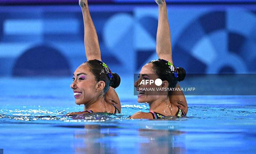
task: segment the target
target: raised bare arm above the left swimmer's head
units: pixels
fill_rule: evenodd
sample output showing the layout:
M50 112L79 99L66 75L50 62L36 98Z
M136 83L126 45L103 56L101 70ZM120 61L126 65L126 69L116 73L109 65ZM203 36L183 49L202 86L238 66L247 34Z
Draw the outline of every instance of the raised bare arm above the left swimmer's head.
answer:
M99 41L91 18L87 0L79 0L84 19L84 47L87 60L101 60Z

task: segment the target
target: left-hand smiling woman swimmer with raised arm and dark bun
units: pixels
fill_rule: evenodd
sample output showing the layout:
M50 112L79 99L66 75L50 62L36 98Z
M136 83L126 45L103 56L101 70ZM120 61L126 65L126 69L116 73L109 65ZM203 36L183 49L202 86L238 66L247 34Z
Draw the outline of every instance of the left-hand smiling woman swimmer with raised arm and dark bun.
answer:
M114 88L120 84L120 77L112 73L101 61L98 36L93 24L87 0L79 0L84 20L84 46L87 61L76 68L73 74L75 104L84 105L84 111L66 115L106 112L120 113L121 105Z

